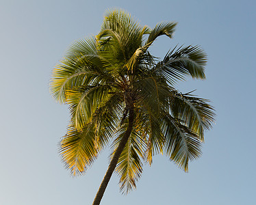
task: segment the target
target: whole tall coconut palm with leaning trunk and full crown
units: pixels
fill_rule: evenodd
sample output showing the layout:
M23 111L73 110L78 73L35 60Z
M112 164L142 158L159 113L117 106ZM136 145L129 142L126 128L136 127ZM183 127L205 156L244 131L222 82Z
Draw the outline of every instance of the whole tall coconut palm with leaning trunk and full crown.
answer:
M164 22L150 29L127 12L109 11L99 34L75 42L53 70L51 94L71 112L60 143L66 168L83 174L101 150L112 150L94 205L114 171L120 190L128 193L155 154L165 154L185 172L201 155L214 109L209 100L173 86L186 76L205 79L204 51L176 46L162 61L149 52L159 36L172 38L176 25Z

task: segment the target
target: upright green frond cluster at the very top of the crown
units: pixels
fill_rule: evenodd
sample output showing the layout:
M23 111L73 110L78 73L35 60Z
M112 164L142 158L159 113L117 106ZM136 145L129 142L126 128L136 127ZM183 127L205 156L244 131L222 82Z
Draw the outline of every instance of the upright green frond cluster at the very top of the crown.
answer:
M114 10L105 17L97 39L101 44L108 41L104 44L107 45L103 52L105 59L125 65L125 61L142 46L146 33L149 33L149 28L140 27L130 14Z

